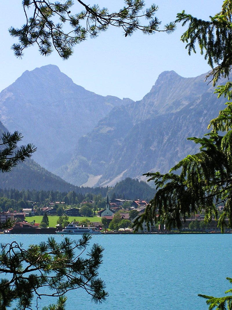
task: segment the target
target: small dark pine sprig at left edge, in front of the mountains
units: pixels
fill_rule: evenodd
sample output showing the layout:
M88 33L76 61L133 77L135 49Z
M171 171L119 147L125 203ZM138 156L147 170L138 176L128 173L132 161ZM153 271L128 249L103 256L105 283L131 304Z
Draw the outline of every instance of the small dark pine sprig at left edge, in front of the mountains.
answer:
M23 162L26 157L31 157L36 151L33 144L17 146L23 136L18 131L13 134L4 132L0 139L0 171L9 172L20 162Z

